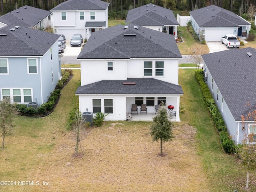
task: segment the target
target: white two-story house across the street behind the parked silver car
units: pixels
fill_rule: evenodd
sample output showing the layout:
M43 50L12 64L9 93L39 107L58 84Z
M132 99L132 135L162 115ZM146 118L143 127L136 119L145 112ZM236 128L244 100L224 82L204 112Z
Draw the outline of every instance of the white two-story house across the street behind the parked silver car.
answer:
M108 28L108 5L100 0L68 0L52 10L53 29L56 34L64 34L71 39L74 34L82 34L88 39L95 31Z

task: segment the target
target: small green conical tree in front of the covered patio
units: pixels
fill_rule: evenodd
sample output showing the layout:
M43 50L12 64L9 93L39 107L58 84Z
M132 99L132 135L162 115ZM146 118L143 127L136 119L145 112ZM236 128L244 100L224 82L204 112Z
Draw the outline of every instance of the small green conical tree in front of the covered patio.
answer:
M153 141L158 142L158 140L160 140L160 155L162 156L163 142L172 141L172 138L174 138L172 133L172 122L168 119L166 107L161 106L158 111L158 116L153 118L153 124L150 127L150 135L152 136Z

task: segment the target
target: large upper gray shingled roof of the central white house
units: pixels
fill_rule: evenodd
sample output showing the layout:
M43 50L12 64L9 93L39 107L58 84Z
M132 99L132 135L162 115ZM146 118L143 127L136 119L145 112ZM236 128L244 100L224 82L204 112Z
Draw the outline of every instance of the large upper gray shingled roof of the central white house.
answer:
M93 32L78 59L182 58L173 36L141 26L134 29L134 24L124 27Z

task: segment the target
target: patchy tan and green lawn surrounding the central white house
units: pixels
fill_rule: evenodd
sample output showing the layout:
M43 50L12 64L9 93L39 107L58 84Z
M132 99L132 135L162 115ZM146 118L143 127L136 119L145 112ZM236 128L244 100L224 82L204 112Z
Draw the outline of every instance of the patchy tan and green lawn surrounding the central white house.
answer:
M194 69L180 69L179 80L186 111L174 123L174 140L164 144L165 157L158 156L159 143L149 135L151 122L109 121L88 131L81 142L84 156L74 158L74 134L67 129L78 101L80 70L74 70L54 112L44 118L16 116L0 150L1 180L41 185L1 186L1 191L255 192L256 174L244 190L246 170L221 148Z

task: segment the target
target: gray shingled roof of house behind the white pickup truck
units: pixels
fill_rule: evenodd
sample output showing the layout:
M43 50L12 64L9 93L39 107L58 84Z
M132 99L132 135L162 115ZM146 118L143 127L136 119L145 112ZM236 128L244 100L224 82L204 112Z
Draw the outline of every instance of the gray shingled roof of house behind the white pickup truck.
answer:
M251 25L233 12L215 5L190 11L190 15L200 27L237 27Z

